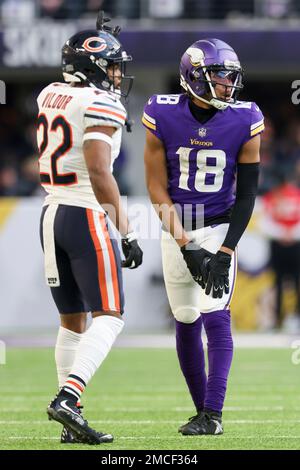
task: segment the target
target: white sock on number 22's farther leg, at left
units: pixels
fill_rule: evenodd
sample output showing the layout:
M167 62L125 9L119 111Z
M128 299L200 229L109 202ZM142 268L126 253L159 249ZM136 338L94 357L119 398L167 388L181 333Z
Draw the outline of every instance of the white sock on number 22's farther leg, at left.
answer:
M71 372L81 336L82 334L67 330L63 326L58 330L55 362L59 388L64 385Z

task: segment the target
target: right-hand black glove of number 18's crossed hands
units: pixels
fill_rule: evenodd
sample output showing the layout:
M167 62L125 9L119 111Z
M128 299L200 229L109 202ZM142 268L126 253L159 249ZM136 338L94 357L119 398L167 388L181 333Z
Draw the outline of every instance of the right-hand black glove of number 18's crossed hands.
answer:
M223 251L218 251L208 262L208 280L205 294L217 299L223 297L223 293L229 294L229 268L231 256Z

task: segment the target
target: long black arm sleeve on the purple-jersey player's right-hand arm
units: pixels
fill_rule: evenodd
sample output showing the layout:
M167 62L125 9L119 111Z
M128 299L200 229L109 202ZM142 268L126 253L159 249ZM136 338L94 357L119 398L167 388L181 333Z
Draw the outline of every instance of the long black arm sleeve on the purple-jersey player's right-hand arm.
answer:
M223 246L234 250L249 223L258 188L259 163L238 163L236 200Z

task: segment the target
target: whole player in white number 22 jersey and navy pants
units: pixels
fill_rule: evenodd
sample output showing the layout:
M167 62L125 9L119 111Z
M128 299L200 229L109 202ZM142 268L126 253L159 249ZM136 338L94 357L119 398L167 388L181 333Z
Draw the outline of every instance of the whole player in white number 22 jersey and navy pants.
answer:
M113 440L88 426L80 396L123 328L121 267L138 267L143 255L111 172L126 122L120 97L128 95L133 77L125 73L131 57L117 39L120 28L107 21L100 12L97 29L66 42L66 83L50 84L37 100L41 184L48 193L40 234L46 280L61 318L59 392L47 413L64 426L61 442ZM106 212L122 235L123 262Z

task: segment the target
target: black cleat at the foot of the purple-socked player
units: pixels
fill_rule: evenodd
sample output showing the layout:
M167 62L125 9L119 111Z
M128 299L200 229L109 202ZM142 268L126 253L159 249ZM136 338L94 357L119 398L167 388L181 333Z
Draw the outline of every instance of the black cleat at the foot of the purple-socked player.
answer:
M212 412L201 411L180 426L178 432L184 436L202 436L223 434L222 418Z

